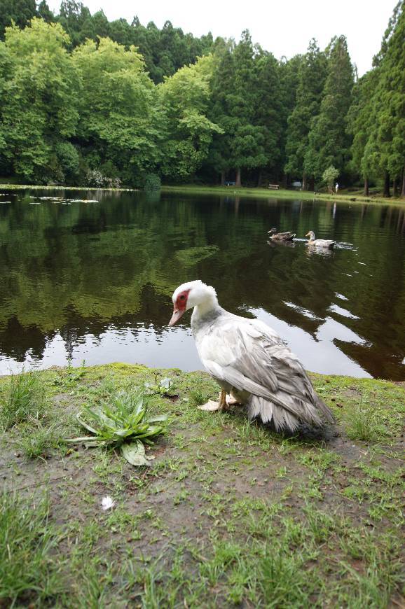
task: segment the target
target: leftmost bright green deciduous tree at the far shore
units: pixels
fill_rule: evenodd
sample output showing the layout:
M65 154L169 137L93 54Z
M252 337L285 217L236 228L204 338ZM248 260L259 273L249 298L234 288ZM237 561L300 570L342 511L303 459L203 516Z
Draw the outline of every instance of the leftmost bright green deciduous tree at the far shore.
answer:
M34 18L6 28L0 42L0 138L17 176L32 183L64 180L57 144L76 130L81 78L59 24Z

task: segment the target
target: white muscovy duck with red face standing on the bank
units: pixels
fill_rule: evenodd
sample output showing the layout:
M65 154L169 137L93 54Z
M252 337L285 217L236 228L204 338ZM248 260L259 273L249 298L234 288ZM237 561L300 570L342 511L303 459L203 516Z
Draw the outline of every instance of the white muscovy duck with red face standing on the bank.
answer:
M219 403L207 402L202 409L223 409L229 393L247 405L250 419L273 421L276 430L334 421L298 358L266 323L228 313L214 288L199 279L179 286L172 300L169 325L194 308L191 330L198 355L222 388Z

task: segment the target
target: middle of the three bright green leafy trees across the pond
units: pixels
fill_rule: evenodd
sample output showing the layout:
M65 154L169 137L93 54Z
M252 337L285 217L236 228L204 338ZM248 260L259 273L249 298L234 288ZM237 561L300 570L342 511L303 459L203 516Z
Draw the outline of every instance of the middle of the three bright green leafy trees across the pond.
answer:
M88 151L88 165L110 161L125 183L139 183L158 164L162 137L156 91L142 55L100 38L76 48L72 59L83 81L77 141Z

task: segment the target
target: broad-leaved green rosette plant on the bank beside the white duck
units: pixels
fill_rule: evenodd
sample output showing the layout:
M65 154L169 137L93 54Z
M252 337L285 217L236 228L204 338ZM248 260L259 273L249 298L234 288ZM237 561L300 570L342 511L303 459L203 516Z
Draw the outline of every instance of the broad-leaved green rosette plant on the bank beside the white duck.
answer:
M111 403L85 406L76 416L92 435L73 437L66 442L79 442L86 448L118 449L131 465L151 465L149 460L153 457L146 458L144 444L153 444L165 430L159 423L167 419L165 414L149 416L147 397L142 391L119 391L111 396Z

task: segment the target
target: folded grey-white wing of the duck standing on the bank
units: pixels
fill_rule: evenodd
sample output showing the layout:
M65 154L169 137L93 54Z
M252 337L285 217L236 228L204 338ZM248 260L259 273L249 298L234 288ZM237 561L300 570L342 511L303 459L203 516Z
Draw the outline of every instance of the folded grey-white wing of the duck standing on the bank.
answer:
M208 372L235 389L265 398L304 420L308 414L314 419L317 409L333 420L298 358L265 323L234 317L211 328L198 350Z

